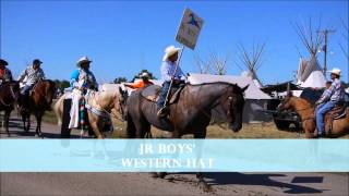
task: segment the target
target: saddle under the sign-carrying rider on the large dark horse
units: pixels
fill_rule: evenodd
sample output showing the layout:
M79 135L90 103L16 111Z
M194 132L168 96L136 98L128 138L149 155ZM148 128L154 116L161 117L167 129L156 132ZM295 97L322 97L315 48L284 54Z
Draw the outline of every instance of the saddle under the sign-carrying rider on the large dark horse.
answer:
M180 94L182 89L184 88L185 85L180 85L179 87L172 87L170 91L170 100L169 105L174 103L179 100ZM146 98L149 101L157 102L159 99L159 94L160 94L161 86L158 85L151 85L148 87L145 87L142 90L142 97Z

